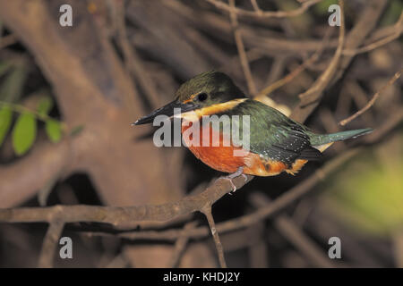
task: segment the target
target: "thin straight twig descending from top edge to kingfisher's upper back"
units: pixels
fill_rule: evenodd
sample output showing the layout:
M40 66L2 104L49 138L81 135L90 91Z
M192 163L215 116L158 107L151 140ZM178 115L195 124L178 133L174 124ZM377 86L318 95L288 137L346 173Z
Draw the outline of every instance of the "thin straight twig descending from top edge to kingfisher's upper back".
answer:
M228 0L228 2L231 7L235 7L235 0ZM241 30L238 29L238 21L236 19L236 13L234 13L234 10L230 11L229 17L231 19L232 29L234 30L236 48L238 50L239 61L241 62L242 70L244 71L244 78L246 79L250 95L254 96L256 94L257 89L253 81L253 76L251 72L251 67L249 66L248 58L244 51L244 41L242 40Z

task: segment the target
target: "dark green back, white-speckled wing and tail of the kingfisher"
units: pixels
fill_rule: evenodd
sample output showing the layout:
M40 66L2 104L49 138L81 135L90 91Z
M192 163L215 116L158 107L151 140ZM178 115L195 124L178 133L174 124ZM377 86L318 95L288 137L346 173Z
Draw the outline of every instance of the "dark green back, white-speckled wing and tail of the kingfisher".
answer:
M372 131L363 129L333 134L315 134L303 124L295 122L278 110L253 99L245 100L225 114L230 118L231 115L250 115L250 150L265 158L287 164L293 163L296 159L318 159L321 152L314 147ZM242 120L240 120L240 130L242 130L242 125Z

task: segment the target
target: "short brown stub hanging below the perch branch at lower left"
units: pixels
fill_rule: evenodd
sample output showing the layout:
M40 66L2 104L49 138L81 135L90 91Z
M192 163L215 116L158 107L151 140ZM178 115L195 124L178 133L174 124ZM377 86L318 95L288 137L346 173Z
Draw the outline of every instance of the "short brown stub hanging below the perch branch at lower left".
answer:
M53 258L55 257L57 241L60 238L64 228L62 221L55 221L49 223L47 228L47 235L43 240L42 249L39 256L39 268L50 268L53 265Z

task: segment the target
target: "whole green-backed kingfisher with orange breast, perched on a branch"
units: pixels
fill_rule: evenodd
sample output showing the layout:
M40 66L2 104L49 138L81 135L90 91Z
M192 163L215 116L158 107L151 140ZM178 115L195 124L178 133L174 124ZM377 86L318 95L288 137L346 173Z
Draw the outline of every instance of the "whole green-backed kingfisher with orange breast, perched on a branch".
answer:
M175 113L174 109L180 112ZM203 72L187 80L177 89L172 102L132 124L153 122L158 115L181 118L182 135L193 124L199 123L200 134L209 134L210 144L192 144L190 136L184 139L186 147L210 168L229 173L223 178L230 180L234 190L236 187L232 179L239 175L244 175L244 178L245 174L274 176L287 172L294 175L309 160L318 160L333 142L356 138L372 131L367 128L317 134L277 109L246 97L233 80L220 71ZM217 128L211 122L202 124L201 119L211 115L227 115L231 125L237 124L240 129L244 126L242 118L248 116L248 149L244 150L243 146L235 144L232 134L223 134L228 130L222 125ZM238 120L235 122L232 118ZM213 142L214 138L218 142ZM229 144L225 144L225 138L229 138ZM244 152L236 154L235 151Z

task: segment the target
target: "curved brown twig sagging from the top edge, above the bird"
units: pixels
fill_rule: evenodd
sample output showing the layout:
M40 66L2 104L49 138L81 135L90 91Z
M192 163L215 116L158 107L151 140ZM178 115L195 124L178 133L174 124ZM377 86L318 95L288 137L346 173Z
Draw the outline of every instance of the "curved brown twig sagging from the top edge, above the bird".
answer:
M313 4L317 4L321 2L322 0L310 0L306 1L303 4L301 4L300 7L296 8L295 10L291 11L264 11L262 13L256 12L256 11L248 11L236 7L231 7L228 4L225 4L223 2L219 2L216 0L206 0L210 4L213 4L217 8L221 10L225 10L227 12L232 12L236 13L236 15L239 16L250 16L250 17L255 17L255 18L285 18L285 17L295 17L297 15L300 15L304 13L306 10L308 10L309 7L311 7Z

